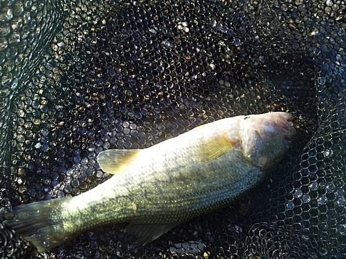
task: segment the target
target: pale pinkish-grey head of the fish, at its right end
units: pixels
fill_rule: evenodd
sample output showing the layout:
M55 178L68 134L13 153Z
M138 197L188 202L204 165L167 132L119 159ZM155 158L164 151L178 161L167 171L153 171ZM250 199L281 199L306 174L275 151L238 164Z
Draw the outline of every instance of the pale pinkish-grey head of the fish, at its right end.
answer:
M290 113L276 112L244 117L243 155L262 171L271 171L295 137Z

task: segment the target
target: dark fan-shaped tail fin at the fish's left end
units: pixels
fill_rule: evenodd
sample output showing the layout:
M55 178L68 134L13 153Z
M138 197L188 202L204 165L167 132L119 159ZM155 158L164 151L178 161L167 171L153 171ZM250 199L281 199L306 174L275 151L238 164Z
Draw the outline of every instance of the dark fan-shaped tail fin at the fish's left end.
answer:
M4 211L3 223L32 242L40 253L67 242L75 235L66 233L61 217L62 204L70 198L33 202Z

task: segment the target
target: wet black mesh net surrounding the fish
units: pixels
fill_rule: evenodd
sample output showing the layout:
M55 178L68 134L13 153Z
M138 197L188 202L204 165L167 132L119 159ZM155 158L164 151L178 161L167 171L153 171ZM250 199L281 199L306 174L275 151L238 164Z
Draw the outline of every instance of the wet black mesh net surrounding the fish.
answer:
M257 189L139 249L124 226L3 258L345 258L341 1L1 1L0 204L78 195L95 157L233 115L289 111L293 148Z

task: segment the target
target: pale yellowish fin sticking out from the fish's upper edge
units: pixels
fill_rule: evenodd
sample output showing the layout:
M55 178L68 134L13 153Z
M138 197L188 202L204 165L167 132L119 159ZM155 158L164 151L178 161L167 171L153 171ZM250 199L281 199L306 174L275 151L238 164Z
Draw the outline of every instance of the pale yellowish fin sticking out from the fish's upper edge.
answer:
M120 168L136 159L143 149L109 149L98 154L98 164L106 173L116 174Z

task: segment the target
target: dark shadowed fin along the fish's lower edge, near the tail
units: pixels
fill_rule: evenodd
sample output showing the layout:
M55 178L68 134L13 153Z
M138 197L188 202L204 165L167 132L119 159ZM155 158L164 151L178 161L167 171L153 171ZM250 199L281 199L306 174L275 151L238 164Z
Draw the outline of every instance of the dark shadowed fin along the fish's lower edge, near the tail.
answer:
M176 224L137 224L130 223L126 229L127 232L133 235L136 240L134 248L142 247L144 244L148 244L155 240L159 236L178 226L180 223Z

